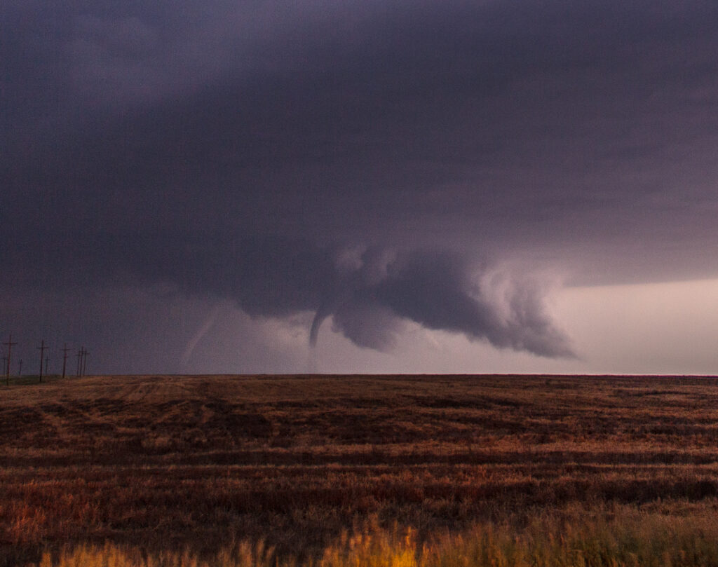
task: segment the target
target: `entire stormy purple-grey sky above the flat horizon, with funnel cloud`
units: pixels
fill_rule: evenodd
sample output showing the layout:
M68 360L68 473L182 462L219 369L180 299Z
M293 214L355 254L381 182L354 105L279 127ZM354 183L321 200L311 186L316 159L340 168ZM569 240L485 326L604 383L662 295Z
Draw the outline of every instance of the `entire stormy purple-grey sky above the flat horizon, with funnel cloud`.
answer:
M717 53L712 0L5 0L11 371L717 372Z

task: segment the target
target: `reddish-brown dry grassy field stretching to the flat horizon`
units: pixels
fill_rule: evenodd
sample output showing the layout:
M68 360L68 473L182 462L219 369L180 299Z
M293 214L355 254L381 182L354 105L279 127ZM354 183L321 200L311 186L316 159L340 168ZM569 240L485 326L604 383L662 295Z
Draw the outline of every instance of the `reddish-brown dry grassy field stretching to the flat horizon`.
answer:
M571 554L580 541L615 557L623 549L619 564L630 564L642 557L641 533L671 526L687 547L683 556L654 550L656 565L717 564L680 561L696 550L718 556L701 547L718 540L717 499L713 378L122 376L0 385L0 565L70 565L73 553L97 564L101 553L129 554L118 565L139 564L132 553L143 561L169 553L174 563L163 564L253 553L258 566L290 556L358 565L351 554L362 545L348 547L357 537L373 542L376 557L388 550L396 561L387 565L404 561L401 553L449 565L441 557L479 553L487 534L526 564L559 544L567 562L554 564L579 564ZM569 545L566 533L578 539Z

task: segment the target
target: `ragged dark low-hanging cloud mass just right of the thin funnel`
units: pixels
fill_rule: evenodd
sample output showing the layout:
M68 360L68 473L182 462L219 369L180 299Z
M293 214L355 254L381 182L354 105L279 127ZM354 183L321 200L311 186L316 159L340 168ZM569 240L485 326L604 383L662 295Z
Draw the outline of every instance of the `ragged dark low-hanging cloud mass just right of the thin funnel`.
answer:
M466 258L436 251L376 252L361 256L352 284L340 289L334 306L317 312L317 324L332 314L335 329L358 345L379 349L391 345L401 331L398 318L404 318L427 329L488 339L495 347L574 356L567 337L546 317L536 281L513 280L492 289L481 285L486 268Z

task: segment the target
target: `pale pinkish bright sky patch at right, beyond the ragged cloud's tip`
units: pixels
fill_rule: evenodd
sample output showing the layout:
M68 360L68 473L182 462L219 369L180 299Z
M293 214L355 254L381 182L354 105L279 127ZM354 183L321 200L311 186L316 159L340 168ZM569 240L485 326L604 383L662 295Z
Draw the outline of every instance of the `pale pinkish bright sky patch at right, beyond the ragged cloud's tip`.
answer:
M587 372L718 373L718 279L564 288L552 313Z

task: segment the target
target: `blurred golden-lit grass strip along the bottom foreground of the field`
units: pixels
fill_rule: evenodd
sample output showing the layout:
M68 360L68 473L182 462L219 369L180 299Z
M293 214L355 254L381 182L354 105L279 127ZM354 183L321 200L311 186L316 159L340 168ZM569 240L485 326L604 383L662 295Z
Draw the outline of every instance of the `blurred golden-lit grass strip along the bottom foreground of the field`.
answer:
M53 561L54 560L54 561ZM264 543L242 541L200 558L185 549L143 553L111 543L80 545L37 567L465 567L465 566L714 566L718 520L614 507L610 512L569 508L561 515L536 514L523 528L481 523L460 533L419 540L411 528L365 527L327 545L316 558L278 557Z

